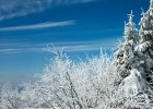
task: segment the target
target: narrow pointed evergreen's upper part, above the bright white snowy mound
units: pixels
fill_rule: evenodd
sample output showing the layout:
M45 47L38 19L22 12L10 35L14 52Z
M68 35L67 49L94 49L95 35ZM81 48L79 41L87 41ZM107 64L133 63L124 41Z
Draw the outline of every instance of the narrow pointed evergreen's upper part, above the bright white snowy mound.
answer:
M116 65L119 76L125 78L130 74L130 70L134 66L134 47L137 44L137 28L133 23L132 11L129 16L129 22L125 23L125 43L116 52Z

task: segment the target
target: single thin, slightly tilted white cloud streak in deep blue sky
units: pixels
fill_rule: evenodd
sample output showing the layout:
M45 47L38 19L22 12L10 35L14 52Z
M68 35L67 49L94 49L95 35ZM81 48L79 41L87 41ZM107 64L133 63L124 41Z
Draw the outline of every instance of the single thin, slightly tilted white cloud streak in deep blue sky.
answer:
M47 23L39 23L39 24L34 24L34 25L3 27L3 28L0 28L0 32L50 28L50 27L59 27L59 26L69 26L73 24L75 24L74 21L47 22Z

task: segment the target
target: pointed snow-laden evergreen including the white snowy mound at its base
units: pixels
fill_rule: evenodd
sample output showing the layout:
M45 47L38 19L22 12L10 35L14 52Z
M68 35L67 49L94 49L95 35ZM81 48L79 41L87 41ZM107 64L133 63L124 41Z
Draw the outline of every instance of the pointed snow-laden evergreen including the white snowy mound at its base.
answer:
M139 44L136 24L132 22L132 11L131 14L128 15L129 22L125 24L125 43L116 52L115 62L119 76L121 77L119 80L118 92L125 97L126 101L132 98L132 102L138 106L130 104L130 107L136 108L139 107L140 102L144 104L144 101L139 101L139 97L148 95L145 94L148 84L144 78L144 69L141 66L140 52L137 50Z

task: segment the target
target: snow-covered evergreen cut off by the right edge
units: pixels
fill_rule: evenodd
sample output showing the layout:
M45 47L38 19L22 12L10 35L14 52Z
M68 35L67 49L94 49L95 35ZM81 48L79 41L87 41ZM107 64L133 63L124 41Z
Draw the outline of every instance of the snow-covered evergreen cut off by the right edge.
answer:
M144 69L145 80L153 87L153 0L150 1L150 8L146 12L142 11L139 31L140 66Z

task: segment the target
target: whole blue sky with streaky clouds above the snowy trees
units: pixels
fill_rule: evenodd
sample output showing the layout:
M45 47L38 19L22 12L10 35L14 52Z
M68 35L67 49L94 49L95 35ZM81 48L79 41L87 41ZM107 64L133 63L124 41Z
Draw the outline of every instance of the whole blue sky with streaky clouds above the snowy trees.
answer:
M0 0L0 78L39 73L51 55L47 45L64 47L72 59L111 49L123 22L134 22L149 0Z

